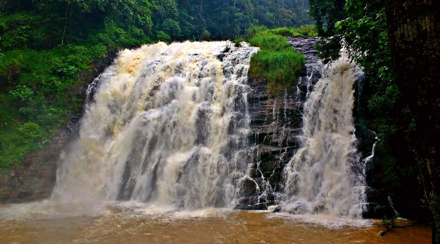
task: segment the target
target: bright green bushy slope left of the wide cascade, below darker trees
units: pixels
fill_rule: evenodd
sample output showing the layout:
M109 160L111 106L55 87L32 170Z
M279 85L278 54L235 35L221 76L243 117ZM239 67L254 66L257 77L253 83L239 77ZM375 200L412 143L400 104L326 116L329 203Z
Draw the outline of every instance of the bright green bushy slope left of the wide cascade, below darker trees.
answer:
M82 106L72 87L103 45L66 45L49 51L7 51L0 60L0 169L21 162L29 150L50 139L67 116ZM44 132L44 133L43 133Z

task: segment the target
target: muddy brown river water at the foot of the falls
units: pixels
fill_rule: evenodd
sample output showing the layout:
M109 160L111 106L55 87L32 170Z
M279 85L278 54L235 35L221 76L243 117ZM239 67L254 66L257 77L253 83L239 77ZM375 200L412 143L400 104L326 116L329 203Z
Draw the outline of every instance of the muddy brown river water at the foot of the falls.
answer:
M55 212L56 210L63 212ZM380 221L347 221L267 211L175 211L112 204L96 215L31 203L0 208L0 243L78 244L428 244L431 229L405 220L388 231Z

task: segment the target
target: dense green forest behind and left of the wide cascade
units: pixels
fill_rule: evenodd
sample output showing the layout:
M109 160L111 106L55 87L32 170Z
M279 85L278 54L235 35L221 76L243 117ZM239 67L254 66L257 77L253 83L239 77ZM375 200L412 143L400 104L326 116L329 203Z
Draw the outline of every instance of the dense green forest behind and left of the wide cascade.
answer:
M119 48L311 23L305 0L1 0L0 11L2 171L79 113L83 82Z

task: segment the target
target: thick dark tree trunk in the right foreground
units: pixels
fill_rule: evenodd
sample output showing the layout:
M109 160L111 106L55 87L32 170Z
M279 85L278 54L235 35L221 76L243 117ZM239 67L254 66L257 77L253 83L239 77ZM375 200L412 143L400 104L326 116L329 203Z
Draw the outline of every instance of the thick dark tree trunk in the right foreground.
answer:
M440 0L385 0L396 81L415 116L430 178L433 243L440 244Z

